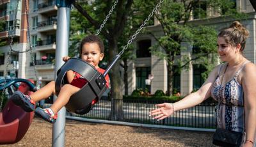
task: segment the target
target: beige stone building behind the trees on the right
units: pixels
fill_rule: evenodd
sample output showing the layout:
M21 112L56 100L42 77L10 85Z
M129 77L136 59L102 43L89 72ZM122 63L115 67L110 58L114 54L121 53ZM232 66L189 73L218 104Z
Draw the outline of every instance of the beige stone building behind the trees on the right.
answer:
M255 63L256 55L256 13L253 10L252 4L249 0L234 0L234 4L237 10L247 13L247 17L241 22L250 31L250 36L246 41L246 49L244 49L244 56L250 59L252 63ZM209 9L206 5L202 5L202 9ZM207 10L207 20L202 20L200 17L191 15L189 23L197 25L214 26L216 31L220 31L223 27L228 27L234 19L223 19L218 13L214 13L211 10ZM163 36L163 31L157 20L154 26L148 26L148 31L154 33L157 36ZM167 91L167 63L164 60L157 58L153 54L150 54L148 48L156 44L156 40L152 35L139 35L136 38L134 47L136 47L137 59L129 63L129 94L136 88L148 88L150 93L155 93L157 89L161 89L164 92ZM188 43L183 43L183 47L186 47L187 51L182 51L180 54L186 54L187 56L193 56L193 47ZM216 63L217 65L218 63ZM205 69L200 65L192 64L189 69L184 69L180 74L173 76L173 89L179 91L181 95L188 95L193 89L198 89L204 83L201 73ZM154 77L154 78L153 78ZM153 78L153 79L152 79ZM148 81L151 79L151 81ZM147 81L147 82L146 82ZM148 84L148 85L147 85Z

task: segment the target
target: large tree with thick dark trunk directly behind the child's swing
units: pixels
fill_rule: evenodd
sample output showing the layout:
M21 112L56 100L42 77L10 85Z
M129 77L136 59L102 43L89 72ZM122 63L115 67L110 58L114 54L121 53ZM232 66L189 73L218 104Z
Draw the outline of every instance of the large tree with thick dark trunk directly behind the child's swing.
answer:
M138 5L133 4L133 0L127 1L118 1L116 4L116 8L110 16L108 22L106 22L105 27L102 29L100 35L106 38L105 46L106 46L106 55L108 56L108 63L111 63L115 58L116 54L120 51L119 47L124 46L124 42L129 39L129 35L136 27L131 27L132 24L138 24L141 20L133 21L131 16L134 16L134 11L139 10ZM93 1L90 4L82 4L79 2L74 3L74 7L77 9L79 13L81 13L88 21L77 21L81 20L77 19L76 29L80 30L80 35L77 33L77 38L81 38L84 34L94 33L93 30L99 29L100 24L104 17L108 14L111 9L111 4L113 4L112 0L108 1ZM133 4L133 5L132 5ZM148 10L146 11L148 12ZM98 14L98 15L95 15ZM138 18L143 17L144 15L137 15ZM132 22L132 21L133 22ZM127 23L129 21L129 23ZM84 26L88 27L88 29L84 28L80 24L84 24ZM129 24L127 26L127 24ZM92 27L93 26L93 27ZM75 29L74 29L75 30ZM72 33L76 33L72 31ZM125 40L122 40L126 38ZM73 41L73 45L76 45L76 41ZM125 56L126 54L126 56ZM127 67L127 57L129 57L129 52L125 52L124 54L124 68ZM125 58L126 57L126 58ZM122 111L122 85L123 81L120 73L120 61L118 61L115 66L113 66L111 72L109 72L109 77L111 79L111 97L113 98L113 103L111 105L111 120L122 120L123 119L123 111ZM121 86L120 86L121 85Z

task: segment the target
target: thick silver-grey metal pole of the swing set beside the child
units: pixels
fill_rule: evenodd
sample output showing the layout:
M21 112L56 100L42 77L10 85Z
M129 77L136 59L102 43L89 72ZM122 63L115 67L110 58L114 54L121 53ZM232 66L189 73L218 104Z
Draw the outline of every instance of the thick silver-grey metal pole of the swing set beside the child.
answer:
M68 55L68 38L69 38L69 26L70 26L70 7L73 1L57 0L58 6L57 13L57 35L56 35L56 55L55 55L55 80L57 79L57 71L64 64L62 61L63 56ZM54 101L56 100L54 96ZM52 128L52 146L64 147L65 146L65 116L66 109L63 107L58 112L58 118Z

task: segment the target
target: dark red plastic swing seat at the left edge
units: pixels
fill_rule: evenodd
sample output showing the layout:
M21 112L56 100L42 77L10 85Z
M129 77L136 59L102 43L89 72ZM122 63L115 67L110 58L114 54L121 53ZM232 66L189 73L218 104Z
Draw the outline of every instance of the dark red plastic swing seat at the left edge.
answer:
M15 79L14 81L20 80L26 81L24 79ZM22 93L31 94L31 91L28 91L28 85L24 83L20 84L18 90ZM28 131L33 117L34 112L25 112L22 108L13 104L12 100L8 100L2 112L0 112L0 144L19 142Z

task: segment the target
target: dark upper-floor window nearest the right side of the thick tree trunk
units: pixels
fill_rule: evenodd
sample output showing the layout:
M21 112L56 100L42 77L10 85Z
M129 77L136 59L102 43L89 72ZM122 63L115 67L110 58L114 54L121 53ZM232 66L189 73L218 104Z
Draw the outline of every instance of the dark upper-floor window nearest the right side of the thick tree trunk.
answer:
M151 47L151 40L139 41L138 49L136 51L137 58L151 57L149 47Z

